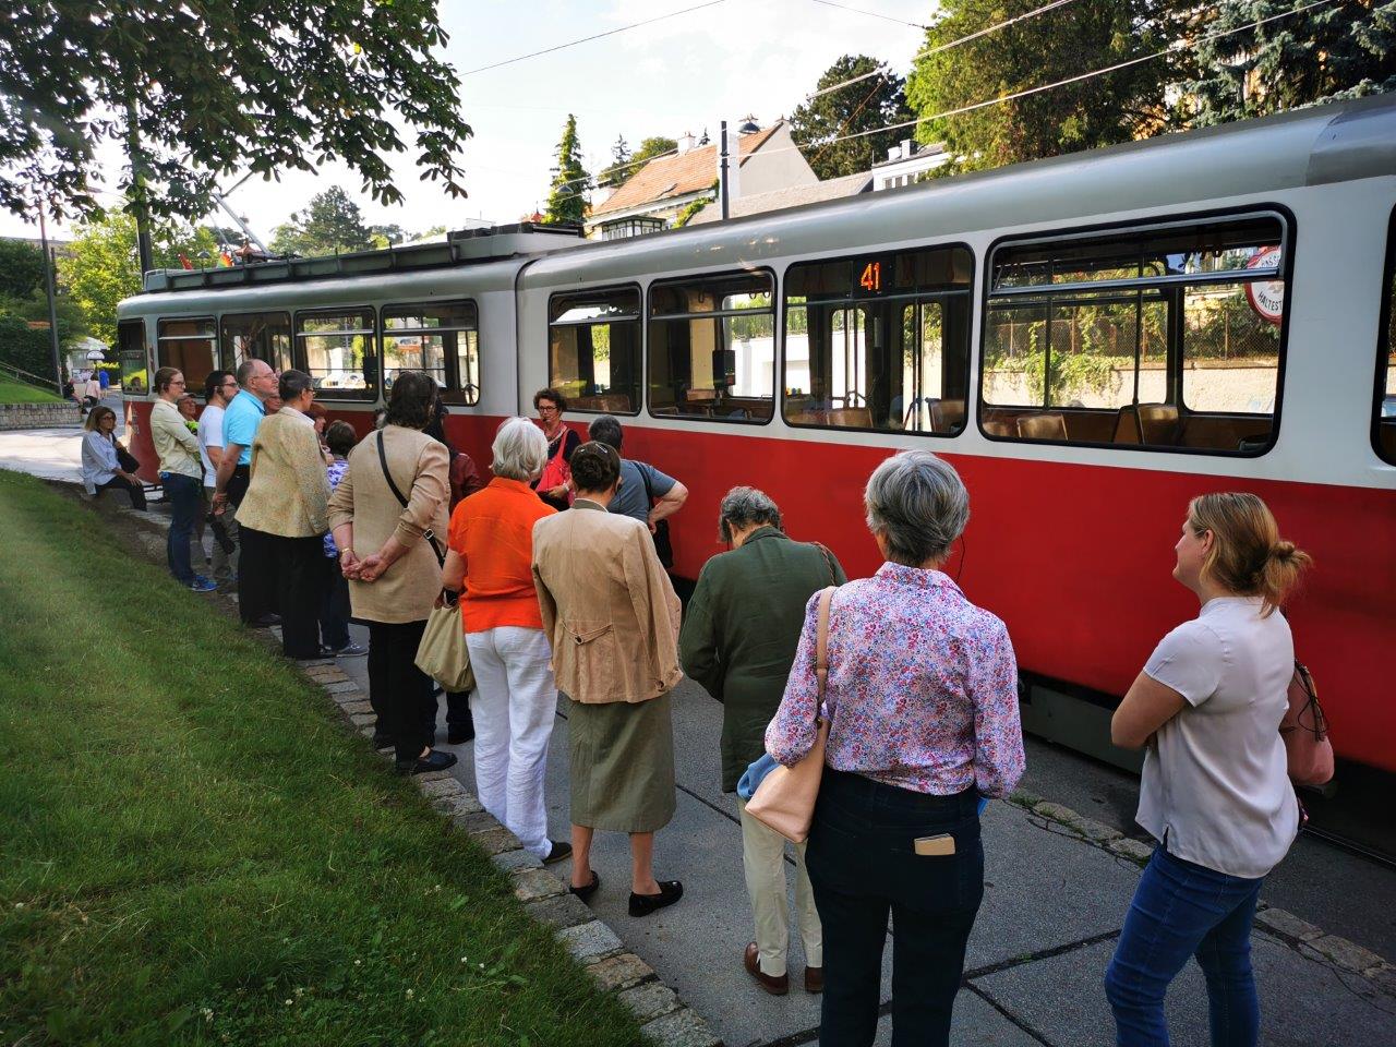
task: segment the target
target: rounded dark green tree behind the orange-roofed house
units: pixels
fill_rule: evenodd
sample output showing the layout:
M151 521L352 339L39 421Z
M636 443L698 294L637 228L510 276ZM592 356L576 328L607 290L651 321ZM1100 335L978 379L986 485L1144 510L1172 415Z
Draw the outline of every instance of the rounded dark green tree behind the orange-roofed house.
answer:
M835 84L875 73L881 66L882 63L867 54L845 54L821 74L815 91L825 91ZM868 170L885 159L886 151L899 140L910 138L912 131L902 127L840 142L831 140L910 119L905 82L892 73L881 73L828 94L817 94L800 103L790 117L790 137L815 174L821 179L836 179Z

